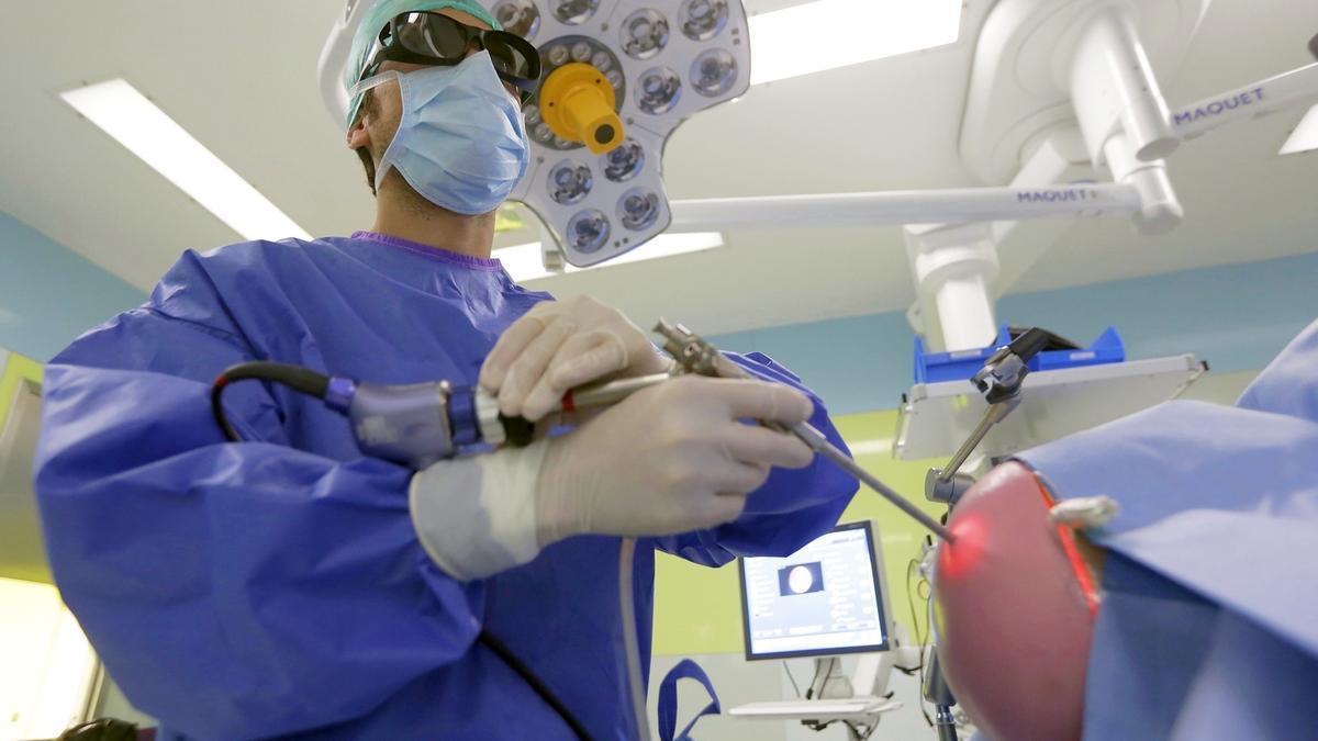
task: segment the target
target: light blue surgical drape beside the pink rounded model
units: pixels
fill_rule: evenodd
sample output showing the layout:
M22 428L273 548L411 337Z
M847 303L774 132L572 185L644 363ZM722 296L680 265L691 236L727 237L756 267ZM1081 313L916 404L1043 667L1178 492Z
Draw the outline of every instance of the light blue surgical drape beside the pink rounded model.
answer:
M1176 401L1021 458L1115 519L1085 738L1318 738L1318 322L1235 406ZM1040 657L1040 661L1048 661Z

